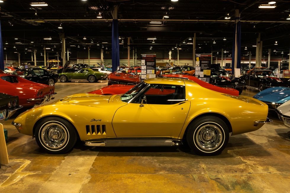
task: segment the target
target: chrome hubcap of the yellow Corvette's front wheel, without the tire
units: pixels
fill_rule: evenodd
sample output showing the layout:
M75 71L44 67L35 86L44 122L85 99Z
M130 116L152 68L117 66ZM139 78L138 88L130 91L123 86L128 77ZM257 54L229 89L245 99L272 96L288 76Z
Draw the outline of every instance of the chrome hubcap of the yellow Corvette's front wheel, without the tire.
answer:
M50 123L42 129L41 139L46 146L56 149L65 145L67 131L58 123Z

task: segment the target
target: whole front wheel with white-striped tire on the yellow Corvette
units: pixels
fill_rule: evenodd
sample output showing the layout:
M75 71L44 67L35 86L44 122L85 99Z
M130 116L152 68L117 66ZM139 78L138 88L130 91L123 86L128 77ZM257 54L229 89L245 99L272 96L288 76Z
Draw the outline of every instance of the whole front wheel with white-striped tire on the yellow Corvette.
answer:
M67 153L77 141L74 126L59 117L48 117L41 120L36 125L34 135L39 147L51 154Z

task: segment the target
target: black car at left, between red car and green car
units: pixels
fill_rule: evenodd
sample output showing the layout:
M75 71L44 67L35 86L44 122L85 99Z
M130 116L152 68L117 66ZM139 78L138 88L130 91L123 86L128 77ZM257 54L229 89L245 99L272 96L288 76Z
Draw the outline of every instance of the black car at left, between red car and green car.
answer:
M32 82L37 82L49 86L54 86L54 83L58 81L58 74L52 74L46 69L42 68L25 68L15 70L13 75L25 78Z

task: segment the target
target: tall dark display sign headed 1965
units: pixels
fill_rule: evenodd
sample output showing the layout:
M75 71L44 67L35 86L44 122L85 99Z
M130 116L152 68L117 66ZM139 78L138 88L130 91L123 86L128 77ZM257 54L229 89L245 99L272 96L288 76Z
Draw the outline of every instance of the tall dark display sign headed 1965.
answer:
M196 54L195 76L204 81L210 82L211 54Z

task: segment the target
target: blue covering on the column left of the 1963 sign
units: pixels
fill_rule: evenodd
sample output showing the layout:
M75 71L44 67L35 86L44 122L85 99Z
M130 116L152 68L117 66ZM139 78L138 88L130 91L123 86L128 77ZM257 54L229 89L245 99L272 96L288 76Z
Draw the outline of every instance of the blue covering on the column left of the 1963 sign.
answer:
M118 66L120 66L119 29L118 20L114 19L112 25L112 72L115 72Z

